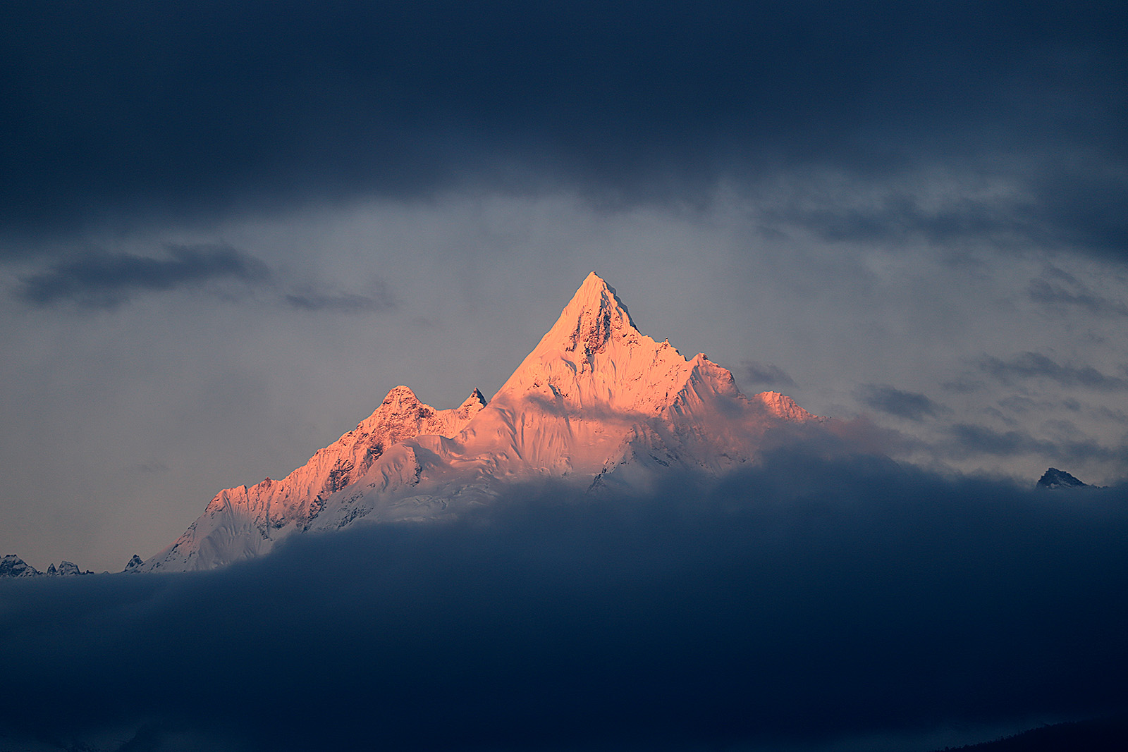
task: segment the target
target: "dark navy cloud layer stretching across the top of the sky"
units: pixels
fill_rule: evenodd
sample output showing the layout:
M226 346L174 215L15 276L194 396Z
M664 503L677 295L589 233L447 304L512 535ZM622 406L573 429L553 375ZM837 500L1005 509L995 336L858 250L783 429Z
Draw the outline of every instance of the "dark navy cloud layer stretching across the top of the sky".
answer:
M831 238L1126 253L1122 3L117 0L0 14L0 223L14 233L481 184L695 203L721 178L849 184L942 166L1025 198L961 192L936 209L917 185L865 210L807 196L779 219Z

